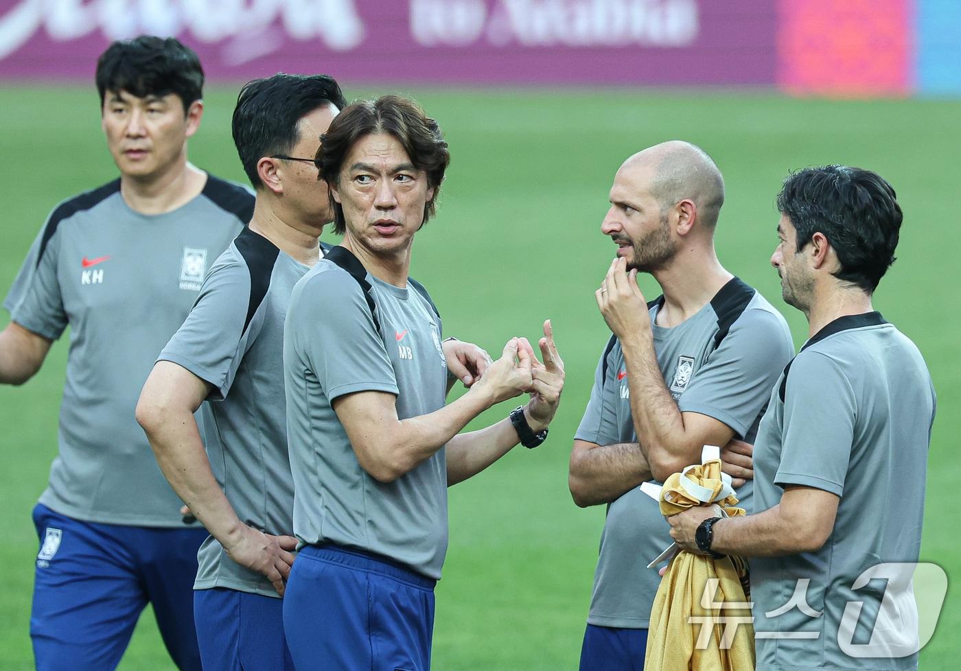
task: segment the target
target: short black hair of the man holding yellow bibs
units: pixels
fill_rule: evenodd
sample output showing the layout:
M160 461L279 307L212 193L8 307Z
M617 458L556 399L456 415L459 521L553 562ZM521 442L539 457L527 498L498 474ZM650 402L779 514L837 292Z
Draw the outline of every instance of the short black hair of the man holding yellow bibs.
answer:
M876 173L846 165L804 168L788 175L777 209L798 235L798 252L823 233L838 255L834 276L875 291L895 262L903 215L894 188Z

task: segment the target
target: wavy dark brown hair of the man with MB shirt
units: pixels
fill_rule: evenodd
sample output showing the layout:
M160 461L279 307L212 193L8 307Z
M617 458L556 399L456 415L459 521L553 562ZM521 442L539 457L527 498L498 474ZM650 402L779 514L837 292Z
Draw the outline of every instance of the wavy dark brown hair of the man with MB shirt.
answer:
M317 151L320 177L331 186L338 185L340 169L351 148L365 135L378 132L397 138L414 167L427 173L427 183L433 189L433 195L424 204L421 226L427 224L433 216L440 183L451 162L451 154L437 122L408 98L387 95L377 100L361 100L338 114L331 128L322 135ZM333 200L333 193L331 204L333 232L342 235L347 229L344 208Z

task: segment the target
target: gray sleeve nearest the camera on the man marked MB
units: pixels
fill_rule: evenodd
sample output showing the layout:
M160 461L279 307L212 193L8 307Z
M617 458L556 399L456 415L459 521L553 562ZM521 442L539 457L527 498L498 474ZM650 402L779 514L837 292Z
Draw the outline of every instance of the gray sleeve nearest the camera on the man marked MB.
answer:
M330 402L356 392L398 394L382 334L354 277L339 269L318 273L298 302L296 347Z

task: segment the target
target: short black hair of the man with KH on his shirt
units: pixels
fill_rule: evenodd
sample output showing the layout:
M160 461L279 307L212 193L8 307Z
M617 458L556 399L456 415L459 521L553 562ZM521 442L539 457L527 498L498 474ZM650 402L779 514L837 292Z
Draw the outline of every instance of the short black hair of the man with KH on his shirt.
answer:
M100 108L107 91L137 98L176 93L184 113L204 95L204 68L189 47L173 37L142 35L113 42L97 60Z

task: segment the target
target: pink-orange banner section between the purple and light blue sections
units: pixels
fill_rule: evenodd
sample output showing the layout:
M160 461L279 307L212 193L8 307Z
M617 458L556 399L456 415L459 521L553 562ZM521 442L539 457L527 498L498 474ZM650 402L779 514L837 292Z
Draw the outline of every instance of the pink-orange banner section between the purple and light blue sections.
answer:
M797 94L906 95L913 0L779 0L777 82Z

